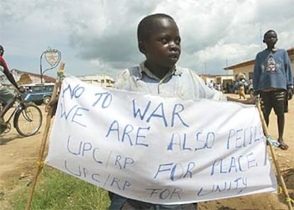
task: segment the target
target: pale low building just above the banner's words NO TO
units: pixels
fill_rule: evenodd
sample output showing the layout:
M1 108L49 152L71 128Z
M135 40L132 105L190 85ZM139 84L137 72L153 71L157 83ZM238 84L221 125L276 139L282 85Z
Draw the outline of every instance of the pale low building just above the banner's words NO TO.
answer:
M94 74L77 76L78 79L88 84L95 84L102 87L114 87L114 78L108 74Z

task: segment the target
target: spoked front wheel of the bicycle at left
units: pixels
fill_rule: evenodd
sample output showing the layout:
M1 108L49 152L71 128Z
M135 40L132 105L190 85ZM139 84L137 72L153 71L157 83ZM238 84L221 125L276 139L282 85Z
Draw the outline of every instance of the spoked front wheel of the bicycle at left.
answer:
M42 112L34 104L26 104L16 112L14 126L21 136L35 135L42 124Z

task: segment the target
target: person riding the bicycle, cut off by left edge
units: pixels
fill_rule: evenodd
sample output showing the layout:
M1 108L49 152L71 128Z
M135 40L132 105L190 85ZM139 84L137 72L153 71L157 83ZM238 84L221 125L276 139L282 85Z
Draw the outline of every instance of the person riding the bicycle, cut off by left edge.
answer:
M16 84L16 80L9 71L9 67L6 65L3 55L4 48L2 45L0 45L0 72L3 72L6 75L7 79L9 79L9 82L11 82L11 84L13 84L13 86L16 87L18 91L21 91L18 88L18 85ZM4 103L4 106L8 106L9 101L13 100L14 96L16 96L16 94L13 91L11 91L9 88L5 87L3 84L0 83L0 101ZM6 129L6 123L4 122L3 118L4 114L5 113L2 113L0 111L0 134Z

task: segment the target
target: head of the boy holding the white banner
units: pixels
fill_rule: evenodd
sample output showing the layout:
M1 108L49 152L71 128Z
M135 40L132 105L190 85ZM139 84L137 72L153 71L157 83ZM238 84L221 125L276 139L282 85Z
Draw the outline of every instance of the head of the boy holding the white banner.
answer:
M174 19L157 13L138 24L138 48L149 67L170 68L180 58L180 33Z

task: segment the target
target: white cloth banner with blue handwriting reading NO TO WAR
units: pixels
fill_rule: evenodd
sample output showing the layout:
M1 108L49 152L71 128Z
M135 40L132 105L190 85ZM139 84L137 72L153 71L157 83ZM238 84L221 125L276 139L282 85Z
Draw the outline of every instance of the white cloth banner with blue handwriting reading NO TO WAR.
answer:
M62 82L46 162L154 204L277 188L255 106L103 89L75 77Z

